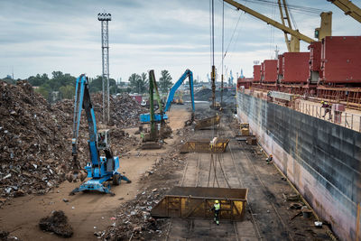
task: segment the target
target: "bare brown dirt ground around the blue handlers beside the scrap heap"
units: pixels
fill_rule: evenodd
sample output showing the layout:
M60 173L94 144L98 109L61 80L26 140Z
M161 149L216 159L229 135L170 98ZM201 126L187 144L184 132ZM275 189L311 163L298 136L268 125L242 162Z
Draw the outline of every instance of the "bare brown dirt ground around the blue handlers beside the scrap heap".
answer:
M174 134L184 126L190 113L184 107L175 107L169 113L169 117ZM125 132L134 134L135 130L125 129ZM120 171L125 171L126 177L133 182L112 187L112 191L116 193L114 197L94 192L69 196L69 192L78 187L79 183L66 181L48 194L12 199L0 209L0 230L6 230L11 236L17 236L22 240L62 240L58 236L42 232L38 223L41 218L50 215L52 210L63 210L74 229L74 236L70 239L97 239L94 232L104 230L115 223L116 209L125 201L134 199L142 184L139 182L140 178L156 162L157 155L169 152L174 142L175 139L167 139L167 144L161 150L143 151L134 148L128 153L123 153L120 156ZM63 199L68 201L65 202Z

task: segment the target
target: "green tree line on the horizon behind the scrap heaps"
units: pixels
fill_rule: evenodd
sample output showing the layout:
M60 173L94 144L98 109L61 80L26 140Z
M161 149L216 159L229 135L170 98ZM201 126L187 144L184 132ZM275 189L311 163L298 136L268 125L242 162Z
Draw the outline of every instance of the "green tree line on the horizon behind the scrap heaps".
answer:
M5 79L0 79L9 83L15 83L16 80L13 80L9 77ZM18 79L20 80L20 79ZM77 78L71 76L69 73L63 73L61 71L53 71L51 73L51 78L47 74L37 74L36 76L31 76L27 79L29 83L36 87L35 91L42 94L48 100L51 100L51 97L54 94L60 94L61 98L73 98L75 93L75 83ZM147 93L149 90L149 79L147 73L136 74L133 73L129 79L129 83L126 86L125 82L116 83L116 79L109 79L109 93L115 95L117 93L138 93L143 94ZM158 82L158 87L162 93L167 93L169 88L171 88L171 74L168 70L162 70L161 78ZM97 76L97 78L89 79L89 90L91 93L95 93L102 90L102 77Z

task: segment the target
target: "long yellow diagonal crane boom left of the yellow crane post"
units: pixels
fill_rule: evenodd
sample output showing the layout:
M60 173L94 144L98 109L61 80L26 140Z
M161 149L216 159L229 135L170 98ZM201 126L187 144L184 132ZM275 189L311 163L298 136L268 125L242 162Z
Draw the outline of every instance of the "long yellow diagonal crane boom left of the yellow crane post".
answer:
M297 30L292 30L292 28L289 28L289 27L283 25L282 23L278 23L277 21L274 21L273 19L271 19L267 16L264 16L264 14L259 14L259 13L255 12L255 10L252 10L251 8L246 7L245 5L241 5L233 0L223 0L223 1L227 2L229 5L235 6L238 10L241 9L241 10L245 11L245 13L255 16L256 18L264 21L267 24L273 25L274 27L282 30L283 32L290 33L292 36L294 36L295 38L297 38L303 42L308 42L308 43L315 42L315 40L302 34L301 32L298 32Z

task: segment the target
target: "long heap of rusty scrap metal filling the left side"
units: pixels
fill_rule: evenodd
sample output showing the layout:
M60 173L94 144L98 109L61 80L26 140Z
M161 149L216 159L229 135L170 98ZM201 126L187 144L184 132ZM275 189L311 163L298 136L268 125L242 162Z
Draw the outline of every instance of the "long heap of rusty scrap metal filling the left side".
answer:
M101 95L94 100L100 119ZM73 109L72 100L51 107L27 81L17 81L16 85L0 82L0 205L7 197L46 193L65 180L72 158ZM136 143L118 128L137 125L142 111L143 107L128 95L111 98L116 152L123 153L127 145ZM79 160L84 165L88 160L84 124L80 135L85 136L79 144Z

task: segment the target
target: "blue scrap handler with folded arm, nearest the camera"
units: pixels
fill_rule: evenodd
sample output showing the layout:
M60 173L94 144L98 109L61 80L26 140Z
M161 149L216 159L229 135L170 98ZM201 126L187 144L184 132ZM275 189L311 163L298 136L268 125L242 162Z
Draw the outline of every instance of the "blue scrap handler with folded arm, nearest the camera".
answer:
M77 79L75 88L75 106L74 106L74 121L73 121L73 136L72 136L72 156L73 169L67 174L68 181L84 181L85 178L90 180L82 183L79 188L72 190L70 194L82 190L98 190L100 192L110 193L110 185L105 186L106 181L113 181L113 184L119 185L121 180L131 182L124 175L117 170L119 168L119 158L113 156L110 148L109 131L97 131L96 116L93 105L90 100L90 93L88 88L88 78L83 74ZM87 163L85 171L80 169L78 161L78 137L79 126L82 110L85 110L88 121L88 147L90 162ZM105 153L105 156L100 155L100 151ZM88 174L86 174L88 172Z

